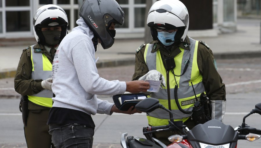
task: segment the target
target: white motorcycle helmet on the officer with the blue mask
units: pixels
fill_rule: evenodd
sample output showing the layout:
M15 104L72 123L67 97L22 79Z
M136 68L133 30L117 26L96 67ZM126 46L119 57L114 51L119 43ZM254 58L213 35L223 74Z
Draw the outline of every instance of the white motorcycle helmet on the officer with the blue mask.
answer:
M156 29L178 29L175 41L183 42L189 29L189 13L179 0L156 1L148 12L147 25L153 40L158 40Z

